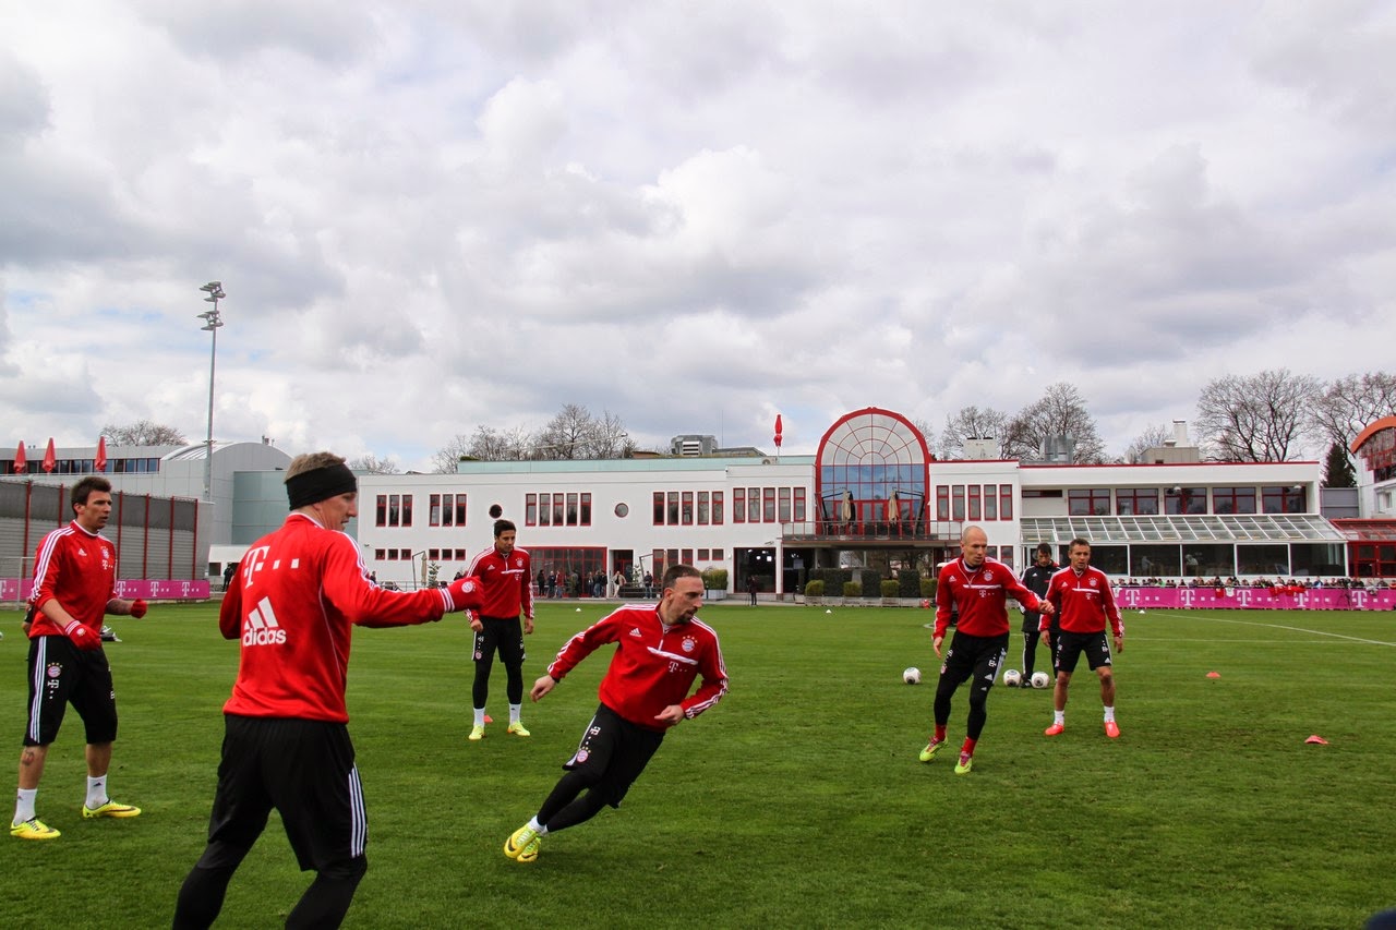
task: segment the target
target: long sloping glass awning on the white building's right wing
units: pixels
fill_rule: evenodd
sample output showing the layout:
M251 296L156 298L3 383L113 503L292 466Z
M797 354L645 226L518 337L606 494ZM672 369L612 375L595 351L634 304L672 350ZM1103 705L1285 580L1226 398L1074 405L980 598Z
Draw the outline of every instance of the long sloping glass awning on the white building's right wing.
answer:
M1023 517L1022 542L1065 545L1078 536L1093 546L1170 542L1347 542L1318 514L1198 514L1170 517Z

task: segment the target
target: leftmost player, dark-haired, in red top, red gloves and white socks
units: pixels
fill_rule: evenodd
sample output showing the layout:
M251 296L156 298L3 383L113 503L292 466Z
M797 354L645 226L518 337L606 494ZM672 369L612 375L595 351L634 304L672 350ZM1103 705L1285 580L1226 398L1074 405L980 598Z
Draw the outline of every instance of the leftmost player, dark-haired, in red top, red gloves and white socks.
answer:
M116 598L116 547L101 535L112 517L112 483L89 475L68 494L73 521L50 531L34 561L29 634L29 722L20 753L20 792L10 835L57 839L59 831L35 814L35 797L49 744L59 736L67 705L87 735L88 790L84 817L137 817L140 807L106 793L116 741L116 691L102 649L102 617L144 617L145 600Z

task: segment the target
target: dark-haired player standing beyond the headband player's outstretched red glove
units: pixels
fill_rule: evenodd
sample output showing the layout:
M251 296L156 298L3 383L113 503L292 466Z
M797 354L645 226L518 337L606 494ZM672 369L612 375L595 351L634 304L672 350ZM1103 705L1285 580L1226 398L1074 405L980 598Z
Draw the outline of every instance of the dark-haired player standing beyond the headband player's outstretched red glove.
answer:
M475 630L475 684L470 698L475 704L472 740L484 739L484 702L490 697L490 669L494 652L504 659L504 694L510 701L508 732L528 736L521 711L524 708L524 637L533 633L533 580L529 554L514 545L518 528L512 521L494 521L494 545L470 563L472 575L484 585L484 605L470 612ZM519 627L519 612L524 626Z

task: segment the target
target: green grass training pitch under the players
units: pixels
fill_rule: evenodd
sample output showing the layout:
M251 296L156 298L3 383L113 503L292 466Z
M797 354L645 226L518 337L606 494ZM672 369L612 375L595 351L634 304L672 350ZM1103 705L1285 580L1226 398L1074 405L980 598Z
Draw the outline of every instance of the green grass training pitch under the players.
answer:
M525 679L603 612L540 605ZM1129 614L1115 663L1124 736L1101 733L1083 666L1055 740L1041 736L1050 691L995 687L967 776L953 754L916 760L938 667L931 612L702 616L723 640L726 700L670 733L620 811L546 838L532 866L500 848L560 775L609 655L525 708L530 739L497 722L468 743L465 624L359 631L349 709L370 869L346 926L1358 927L1396 905L1393 613ZM202 849L236 647L212 606L113 626L112 793L145 813L81 820L70 714L39 792L63 836L0 841L10 926L169 926ZM14 785L20 614L0 613L0 631ZM909 665L926 684L902 683ZM500 666L491 691L504 721ZM953 744L965 714L960 693ZM1311 733L1329 746L1305 744ZM279 926L307 881L274 818L218 926Z

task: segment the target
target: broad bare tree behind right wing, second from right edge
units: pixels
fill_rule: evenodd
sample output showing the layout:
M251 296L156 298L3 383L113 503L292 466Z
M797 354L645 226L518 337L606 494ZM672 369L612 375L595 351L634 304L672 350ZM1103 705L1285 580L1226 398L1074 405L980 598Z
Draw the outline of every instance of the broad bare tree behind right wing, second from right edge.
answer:
M1219 462L1287 462L1314 438L1318 378L1272 369L1215 378L1198 395L1198 430Z

